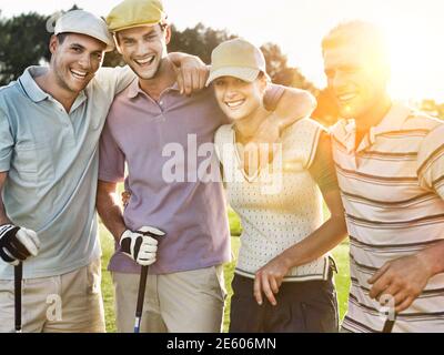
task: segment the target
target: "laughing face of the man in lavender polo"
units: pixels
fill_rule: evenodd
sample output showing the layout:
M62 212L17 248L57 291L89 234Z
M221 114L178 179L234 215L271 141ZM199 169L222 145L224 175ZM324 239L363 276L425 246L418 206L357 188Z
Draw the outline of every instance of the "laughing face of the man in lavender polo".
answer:
M155 78L162 59L168 55L170 28L162 30L160 24L142 26L119 31L115 36L119 52L135 74L143 80Z

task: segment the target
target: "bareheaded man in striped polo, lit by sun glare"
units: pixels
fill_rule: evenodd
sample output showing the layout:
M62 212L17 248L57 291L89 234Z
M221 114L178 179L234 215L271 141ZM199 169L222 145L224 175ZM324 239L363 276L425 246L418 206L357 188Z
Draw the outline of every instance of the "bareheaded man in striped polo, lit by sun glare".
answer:
M344 118L332 128L351 244L343 328L381 332L395 320L393 332L444 332L444 124L391 100L374 26L340 24L322 48Z

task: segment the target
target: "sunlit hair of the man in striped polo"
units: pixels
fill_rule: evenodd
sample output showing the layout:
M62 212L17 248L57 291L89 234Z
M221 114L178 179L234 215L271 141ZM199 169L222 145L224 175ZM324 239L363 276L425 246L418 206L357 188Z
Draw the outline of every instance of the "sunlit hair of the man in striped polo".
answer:
M342 22L333 28L322 40L322 52L343 45L364 50L374 64L390 68L390 55L384 32L374 23L355 20Z

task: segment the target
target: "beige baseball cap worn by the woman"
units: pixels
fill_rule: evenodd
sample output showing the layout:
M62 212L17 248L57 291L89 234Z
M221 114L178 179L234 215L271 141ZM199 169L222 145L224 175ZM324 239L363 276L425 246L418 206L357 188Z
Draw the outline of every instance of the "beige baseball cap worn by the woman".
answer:
M262 51L249 41L238 38L225 41L213 50L206 87L221 77L234 77L253 82L260 72L266 74Z

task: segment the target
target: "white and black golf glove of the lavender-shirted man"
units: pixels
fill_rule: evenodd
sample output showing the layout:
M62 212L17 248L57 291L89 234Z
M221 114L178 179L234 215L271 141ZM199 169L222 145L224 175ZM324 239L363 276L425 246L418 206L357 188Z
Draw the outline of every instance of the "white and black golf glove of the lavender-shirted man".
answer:
M149 266L155 263L158 241L154 237L165 235L152 226L143 226L137 232L124 231L120 239L120 246L139 265Z

